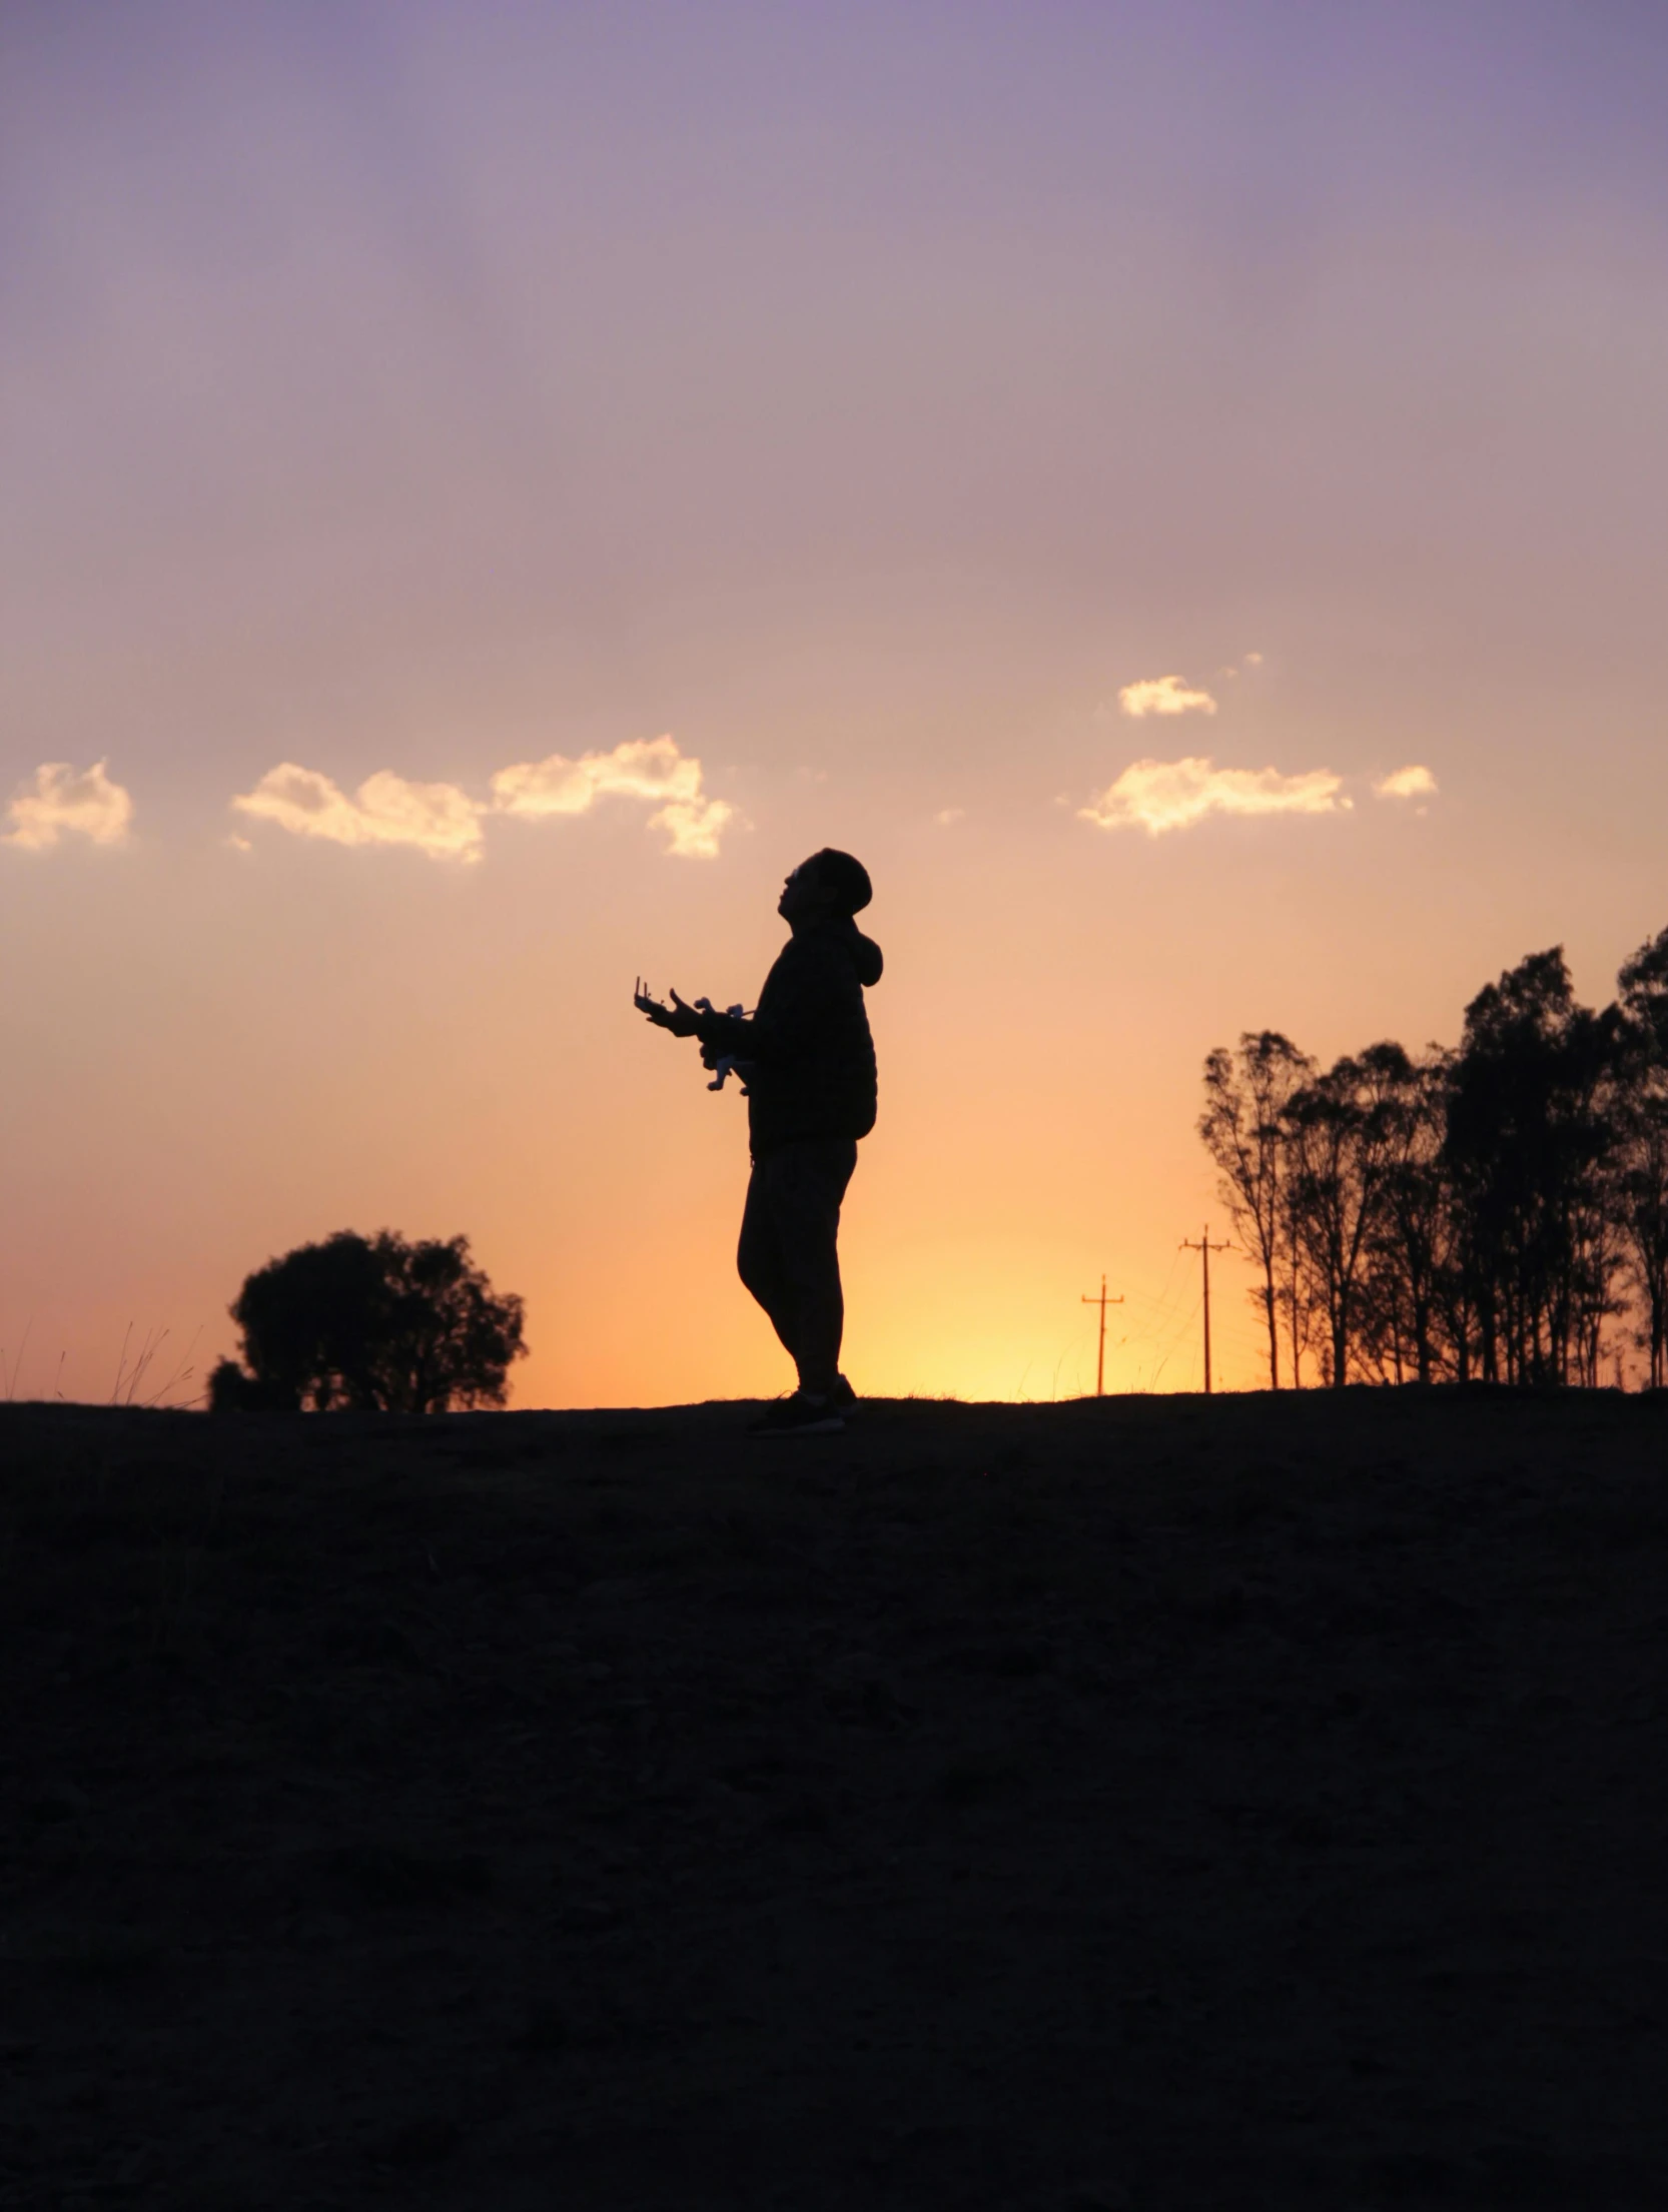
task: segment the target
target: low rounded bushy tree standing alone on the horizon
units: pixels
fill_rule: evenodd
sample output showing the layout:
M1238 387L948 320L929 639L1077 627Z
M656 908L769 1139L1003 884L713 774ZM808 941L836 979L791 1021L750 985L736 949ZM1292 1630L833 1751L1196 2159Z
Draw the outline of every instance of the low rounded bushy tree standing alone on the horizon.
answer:
M469 1239L407 1243L341 1230L250 1274L232 1305L243 1360L210 1407L445 1413L502 1405L522 1358L522 1301L498 1296Z

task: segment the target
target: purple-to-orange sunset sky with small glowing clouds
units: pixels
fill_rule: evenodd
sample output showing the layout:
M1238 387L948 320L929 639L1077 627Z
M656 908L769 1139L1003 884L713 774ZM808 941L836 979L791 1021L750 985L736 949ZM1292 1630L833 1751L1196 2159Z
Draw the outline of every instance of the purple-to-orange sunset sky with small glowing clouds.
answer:
M1659 0L0 9L0 1391L350 1225L518 1405L785 1389L630 987L825 843L858 1391L1102 1270L1197 1387L1212 1044L1668 922L1664 115Z

